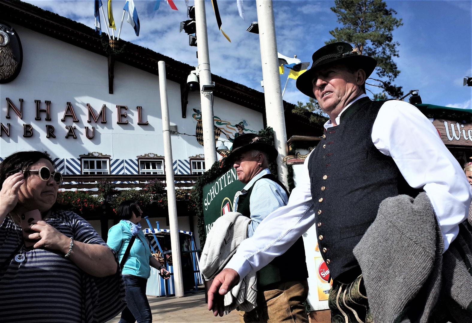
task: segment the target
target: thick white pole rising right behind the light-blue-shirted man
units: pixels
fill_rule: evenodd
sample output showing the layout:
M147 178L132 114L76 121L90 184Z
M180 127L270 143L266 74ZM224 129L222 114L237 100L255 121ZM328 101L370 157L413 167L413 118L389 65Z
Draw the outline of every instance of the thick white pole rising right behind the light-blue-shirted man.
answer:
M287 166L283 158L287 156L287 133L285 131L284 103L278 71L277 41L275 38L274 8L272 0L256 0L261 44L262 78L267 125L274 130L275 147L278 151L278 179L288 187Z

